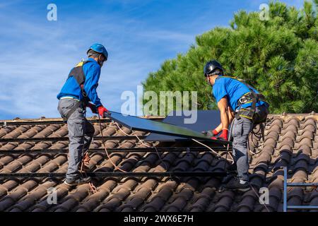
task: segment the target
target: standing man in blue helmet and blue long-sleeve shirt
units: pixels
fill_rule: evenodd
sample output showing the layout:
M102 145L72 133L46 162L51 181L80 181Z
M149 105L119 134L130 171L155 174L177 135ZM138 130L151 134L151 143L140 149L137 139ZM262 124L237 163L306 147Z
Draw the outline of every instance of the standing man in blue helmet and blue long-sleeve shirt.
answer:
M69 130L69 167L64 182L69 186L90 182L90 177L81 177L78 171L95 133L93 125L86 119L86 107L90 107L93 113L100 114L100 117L105 117L108 113L96 92L100 69L107 61L107 50L102 44L96 43L88 49L87 54L88 60L71 69L57 95L57 109L67 122Z

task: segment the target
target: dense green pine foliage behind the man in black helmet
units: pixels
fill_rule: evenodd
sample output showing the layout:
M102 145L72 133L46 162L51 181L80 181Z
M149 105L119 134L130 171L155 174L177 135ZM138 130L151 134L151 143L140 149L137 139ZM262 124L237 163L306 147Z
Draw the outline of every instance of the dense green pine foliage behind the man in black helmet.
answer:
M300 10L272 1L269 20L260 20L259 11L239 11L230 28L197 36L187 53L150 73L143 88L158 94L196 90L198 109L216 109L203 68L217 59L226 75L242 78L264 94L271 113L318 112L317 6L318 0L305 1Z

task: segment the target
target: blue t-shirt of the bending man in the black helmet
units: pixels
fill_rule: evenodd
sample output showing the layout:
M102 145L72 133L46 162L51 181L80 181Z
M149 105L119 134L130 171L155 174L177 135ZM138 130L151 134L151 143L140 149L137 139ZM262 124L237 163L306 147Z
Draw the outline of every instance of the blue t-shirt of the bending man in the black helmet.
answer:
M251 87L252 88L252 87ZM259 93L257 90L252 88L252 90L255 93ZM247 88L247 86L234 79L234 78L228 78L223 76L218 76L216 78L216 83L213 85L213 96L216 98L216 102L219 102L223 97L228 97L228 105L231 107L233 111L237 108L237 101L242 97L242 95L245 95L245 93L249 93L250 90ZM257 102L257 106L260 105L266 105L268 107L266 102L259 101ZM251 107L252 103L247 103L244 105L241 105L240 108L246 108Z

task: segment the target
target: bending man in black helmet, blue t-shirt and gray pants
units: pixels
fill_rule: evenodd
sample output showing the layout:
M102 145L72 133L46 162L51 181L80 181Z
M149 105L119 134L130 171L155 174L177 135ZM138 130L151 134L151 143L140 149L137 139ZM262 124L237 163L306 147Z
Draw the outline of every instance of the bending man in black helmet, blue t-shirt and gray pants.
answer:
M216 60L208 61L204 67L204 76L213 88L221 121L216 129L205 133L213 139L228 141L228 127L232 123L231 136L235 162L228 169L237 170L237 177L230 180L225 188L247 191L250 187L247 157L249 133L255 125L266 121L269 104L264 100L263 95L245 81L224 76L223 67Z

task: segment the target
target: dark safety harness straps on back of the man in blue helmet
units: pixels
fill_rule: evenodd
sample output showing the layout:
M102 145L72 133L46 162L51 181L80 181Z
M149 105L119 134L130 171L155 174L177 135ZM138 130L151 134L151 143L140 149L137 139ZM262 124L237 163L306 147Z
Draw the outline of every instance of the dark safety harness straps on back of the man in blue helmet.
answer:
M71 69L69 76L67 77L67 79L69 79L71 76L73 76L73 78L76 79L78 85L81 88L81 93L83 95L83 100L80 100L78 102L76 102L76 104L71 108L71 110L69 110L69 112L66 114L65 117L63 117L64 122L67 121L67 119L69 119L69 117L71 117L71 114L73 114L76 109L78 109L78 107L82 106L83 108L85 108L88 104L88 102L90 101L86 91L84 90L84 83L85 83L85 73L83 71L83 65L86 64L88 61L81 61L79 62L75 67L73 67L73 69Z

